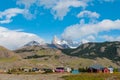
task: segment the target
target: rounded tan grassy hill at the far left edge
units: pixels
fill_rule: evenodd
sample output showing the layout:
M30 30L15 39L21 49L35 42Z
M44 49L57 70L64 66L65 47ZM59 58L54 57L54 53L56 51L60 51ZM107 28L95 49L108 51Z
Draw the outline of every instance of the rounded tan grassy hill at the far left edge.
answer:
M8 69L18 66L21 57L11 50L0 46L0 69Z

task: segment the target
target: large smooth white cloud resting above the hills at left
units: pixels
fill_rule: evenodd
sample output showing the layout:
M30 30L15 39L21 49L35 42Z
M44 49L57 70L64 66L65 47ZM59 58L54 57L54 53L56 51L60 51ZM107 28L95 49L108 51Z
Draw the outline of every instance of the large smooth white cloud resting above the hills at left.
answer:
M43 39L35 34L0 27L0 45L8 49L19 48L32 40L43 42Z

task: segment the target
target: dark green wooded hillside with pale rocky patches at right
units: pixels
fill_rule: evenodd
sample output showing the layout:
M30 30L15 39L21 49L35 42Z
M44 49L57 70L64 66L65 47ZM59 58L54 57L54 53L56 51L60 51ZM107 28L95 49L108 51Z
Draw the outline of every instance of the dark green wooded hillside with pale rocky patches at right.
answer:
M63 53L79 58L107 58L120 65L120 42L85 43L76 49L64 49Z

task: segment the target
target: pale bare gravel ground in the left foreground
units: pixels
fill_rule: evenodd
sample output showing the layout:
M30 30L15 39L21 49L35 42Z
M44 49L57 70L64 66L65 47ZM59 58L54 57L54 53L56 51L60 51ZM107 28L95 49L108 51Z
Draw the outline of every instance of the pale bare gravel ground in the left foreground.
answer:
M38 74L38 75L15 75L0 74L0 80L63 80L62 76L67 74Z

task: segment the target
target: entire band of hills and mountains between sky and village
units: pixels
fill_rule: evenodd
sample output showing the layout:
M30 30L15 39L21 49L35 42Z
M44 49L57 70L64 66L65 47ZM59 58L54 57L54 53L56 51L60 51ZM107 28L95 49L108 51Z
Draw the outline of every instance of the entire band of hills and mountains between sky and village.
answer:
M88 67L99 63L103 66L120 67L120 42L89 42L77 48L61 48L56 39L51 44L31 41L11 51L0 47L0 65L9 67ZM14 66L13 66L14 65Z

